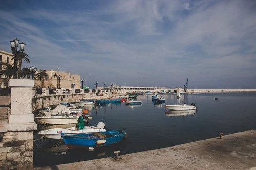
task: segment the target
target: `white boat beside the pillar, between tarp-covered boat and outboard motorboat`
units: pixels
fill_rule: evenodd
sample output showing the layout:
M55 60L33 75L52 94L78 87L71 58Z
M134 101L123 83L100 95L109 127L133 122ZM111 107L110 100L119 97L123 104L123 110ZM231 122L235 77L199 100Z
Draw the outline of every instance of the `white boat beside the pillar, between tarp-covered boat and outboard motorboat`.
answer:
M66 115L53 115L53 116L40 116L35 119L42 124L75 124L77 123L79 116L66 114Z

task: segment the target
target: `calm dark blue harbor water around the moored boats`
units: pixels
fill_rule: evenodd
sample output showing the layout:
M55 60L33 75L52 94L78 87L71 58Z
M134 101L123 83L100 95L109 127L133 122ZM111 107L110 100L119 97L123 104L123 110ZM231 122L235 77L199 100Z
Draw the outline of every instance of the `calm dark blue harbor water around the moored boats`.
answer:
M88 107L90 125L99 121L108 129L126 129L125 141L93 152L86 149L49 153L47 148L57 142L34 142L34 167L71 163L77 161L113 157L113 151L120 155L153 150L174 145L209 139L219 136L256 129L256 93L200 93L162 95L164 104L154 105L151 95L138 96L141 106L125 106L125 103L110 103L105 106ZM218 98L218 100L214 100ZM198 111L193 115L170 116L167 104L195 103ZM39 138L35 133L35 138ZM59 148L59 147L57 147Z

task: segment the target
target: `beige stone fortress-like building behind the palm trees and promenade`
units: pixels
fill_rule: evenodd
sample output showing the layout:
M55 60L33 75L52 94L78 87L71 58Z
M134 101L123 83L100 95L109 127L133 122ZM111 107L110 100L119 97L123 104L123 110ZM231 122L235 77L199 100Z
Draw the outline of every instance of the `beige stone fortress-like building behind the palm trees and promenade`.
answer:
M39 70L38 70L39 71ZM37 72L36 72L37 73ZM78 74L70 74L69 72L65 71L56 71L56 70L47 70L47 74L49 76L48 80L44 80L44 87L43 88L58 88L58 84L60 85L60 88L81 88L81 82L80 82L80 75ZM61 80L59 81L56 76L54 75L60 75ZM41 88L41 81L35 80L35 87Z

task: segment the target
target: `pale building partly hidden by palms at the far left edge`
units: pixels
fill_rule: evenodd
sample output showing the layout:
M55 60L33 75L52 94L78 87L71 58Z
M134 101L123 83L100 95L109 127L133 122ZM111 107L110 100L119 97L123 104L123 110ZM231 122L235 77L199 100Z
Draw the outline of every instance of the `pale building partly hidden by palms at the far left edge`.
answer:
M14 63L14 60L11 61L12 55L13 55L12 53L8 53L0 50L0 71L5 69L5 67L8 64L12 65ZM4 75L0 74L0 88L8 87L8 80L9 79L5 78Z

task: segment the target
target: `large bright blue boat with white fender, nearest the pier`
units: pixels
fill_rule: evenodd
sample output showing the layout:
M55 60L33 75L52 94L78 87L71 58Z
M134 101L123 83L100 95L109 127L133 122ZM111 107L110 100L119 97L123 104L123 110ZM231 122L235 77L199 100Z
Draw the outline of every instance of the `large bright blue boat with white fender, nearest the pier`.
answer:
M69 135L61 133L62 139L67 149L72 148L89 148L103 147L118 143L126 138L125 130L113 130L100 133L80 133Z

